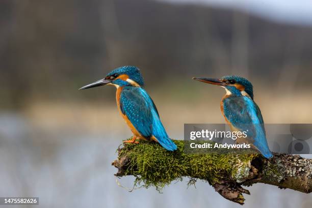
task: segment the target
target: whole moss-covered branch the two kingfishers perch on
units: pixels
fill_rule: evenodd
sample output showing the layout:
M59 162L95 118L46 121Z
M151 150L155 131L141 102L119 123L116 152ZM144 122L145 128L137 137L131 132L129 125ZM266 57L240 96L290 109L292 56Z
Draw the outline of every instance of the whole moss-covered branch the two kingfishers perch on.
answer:
M125 144L118 148L118 159L112 163L118 168L115 175L134 175L135 185L154 186L158 190L187 176L191 179L189 184L203 180L224 198L240 204L244 204L243 193L250 194L242 186L255 183L303 193L312 190L311 159L275 154L268 160L256 151L237 154L237 150L227 150L227 154L187 154L183 140L174 143L178 146L175 152L166 151L155 142Z

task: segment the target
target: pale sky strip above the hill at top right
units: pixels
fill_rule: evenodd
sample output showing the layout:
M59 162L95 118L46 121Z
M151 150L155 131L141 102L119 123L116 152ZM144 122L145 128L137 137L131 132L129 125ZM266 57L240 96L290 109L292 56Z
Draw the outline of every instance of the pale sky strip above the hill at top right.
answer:
M160 0L235 8L278 22L312 26L312 0Z

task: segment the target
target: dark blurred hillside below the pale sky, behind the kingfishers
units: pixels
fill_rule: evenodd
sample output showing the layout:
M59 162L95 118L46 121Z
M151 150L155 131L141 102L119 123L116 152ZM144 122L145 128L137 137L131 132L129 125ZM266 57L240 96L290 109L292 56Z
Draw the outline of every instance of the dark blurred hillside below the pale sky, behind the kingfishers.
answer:
M151 0L0 4L2 106L22 107L37 96L74 99L76 88L121 65L143 69L149 85L156 76L230 73L270 84L296 63L303 76L292 85L311 85L311 27Z

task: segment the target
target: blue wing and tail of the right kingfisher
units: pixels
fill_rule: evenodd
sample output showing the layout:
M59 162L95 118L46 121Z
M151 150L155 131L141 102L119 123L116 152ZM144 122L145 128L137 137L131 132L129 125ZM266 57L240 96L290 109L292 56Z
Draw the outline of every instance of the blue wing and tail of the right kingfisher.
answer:
M248 96L230 96L223 100L223 112L229 123L241 131L248 129L247 136L266 157L273 155L269 149L264 122L257 104Z

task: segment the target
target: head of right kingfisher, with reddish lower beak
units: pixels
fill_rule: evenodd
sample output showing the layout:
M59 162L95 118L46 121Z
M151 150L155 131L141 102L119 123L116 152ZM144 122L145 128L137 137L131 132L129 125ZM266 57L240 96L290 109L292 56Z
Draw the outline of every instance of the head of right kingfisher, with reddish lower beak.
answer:
M229 75L221 77L221 79L211 79L211 78L195 78L194 80L219 85L225 88L227 94L233 94L237 96L248 94L251 99L253 99L252 84L244 77L239 77L236 75Z

